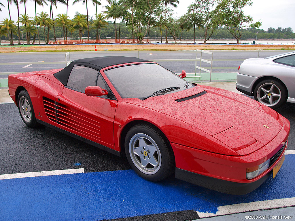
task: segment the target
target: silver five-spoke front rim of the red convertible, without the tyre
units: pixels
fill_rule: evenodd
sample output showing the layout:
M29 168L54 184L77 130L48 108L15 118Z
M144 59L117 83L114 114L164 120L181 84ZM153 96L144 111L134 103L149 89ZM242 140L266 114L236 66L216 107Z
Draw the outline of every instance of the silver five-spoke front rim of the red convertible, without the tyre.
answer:
M134 165L145 174L155 174L161 166L161 153L156 142L144 133L130 139L129 153Z

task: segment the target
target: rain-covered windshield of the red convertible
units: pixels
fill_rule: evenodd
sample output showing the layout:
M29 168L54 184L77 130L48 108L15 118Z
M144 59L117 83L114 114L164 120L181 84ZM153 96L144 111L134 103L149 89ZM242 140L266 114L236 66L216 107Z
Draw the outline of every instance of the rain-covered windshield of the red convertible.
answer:
M128 65L104 72L122 98L144 98L164 88L179 87L176 90L163 92L174 93L194 87L193 84L187 83L186 80L158 64Z

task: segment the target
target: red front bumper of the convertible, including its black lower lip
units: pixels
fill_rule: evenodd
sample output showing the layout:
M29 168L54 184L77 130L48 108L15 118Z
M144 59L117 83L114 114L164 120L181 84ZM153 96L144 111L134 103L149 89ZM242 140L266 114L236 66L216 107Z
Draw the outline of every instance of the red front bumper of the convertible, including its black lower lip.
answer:
M290 123L286 119L283 122L281 131L272 141L243 156L226 156L171 143L176 161L176 178L229 194L253 191L272 174L273 167L285 153ZM276 154L279 156L274 159ZM274 160L266 171L253 179L246 178L247 168L268 159Z

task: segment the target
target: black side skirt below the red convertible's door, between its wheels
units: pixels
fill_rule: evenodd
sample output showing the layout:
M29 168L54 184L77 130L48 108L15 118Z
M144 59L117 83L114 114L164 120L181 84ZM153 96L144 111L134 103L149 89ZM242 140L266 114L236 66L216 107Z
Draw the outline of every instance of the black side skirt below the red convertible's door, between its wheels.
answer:
M80 141L83 141L83 142L85 142L85 143L87 143L87 144L90 144L90 145L92 145L92 146L98 147L99 149L102 149L102 150L104 150L104 151L107 151L107 152L109 152L109 153L111 153L111 154L114 154L114 155L116 155L116 156L121 156L121 154L120 154L119 151L116 151L116 150L111 149L111 148L109 148L109 147L106 147L106 146L103 146L103 145L101 145L101 144L95 143L94 141L88 140L88 139L83 138L83 137L81 137L81 136L78 136L78 135L76 135L76 134L74 134L74 133L71 133L71 132L65 131L65 130L59 128L59 127L53 126L53 125L51 125L51 124L49 124L49 123L46 123L46 122L44 122L44 121L40 121L40 120L38 120L38 119L36 119L36 120L37 120L38 123L41 123L41 124L43 124L43 125L45 125L45 126L47 126L47 127L53 128L53 129L55 129L55 130L57 130L57 131L59 131L59 132L61 132L61 133L64 133L64 134L66 134L66 135L69 135L69 136L71 136L71 137L73 137L73 138L76 138L76 139L78 139L78 140L80 140Z

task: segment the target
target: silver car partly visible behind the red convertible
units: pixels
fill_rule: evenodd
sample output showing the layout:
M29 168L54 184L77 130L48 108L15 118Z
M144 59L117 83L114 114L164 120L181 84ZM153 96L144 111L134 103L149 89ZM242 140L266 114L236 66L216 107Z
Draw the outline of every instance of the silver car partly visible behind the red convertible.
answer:
M273 109L295 103L295 52L246 59L239 67L236 88Z

